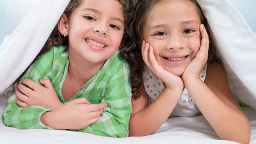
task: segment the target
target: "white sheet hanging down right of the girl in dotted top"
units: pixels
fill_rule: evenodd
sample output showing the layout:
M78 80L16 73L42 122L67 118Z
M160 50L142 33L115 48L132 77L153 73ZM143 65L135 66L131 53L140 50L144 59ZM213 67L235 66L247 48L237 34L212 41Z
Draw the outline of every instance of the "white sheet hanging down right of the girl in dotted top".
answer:
M197 0L215 35L234 96L256 109L256 34L228 0Z

